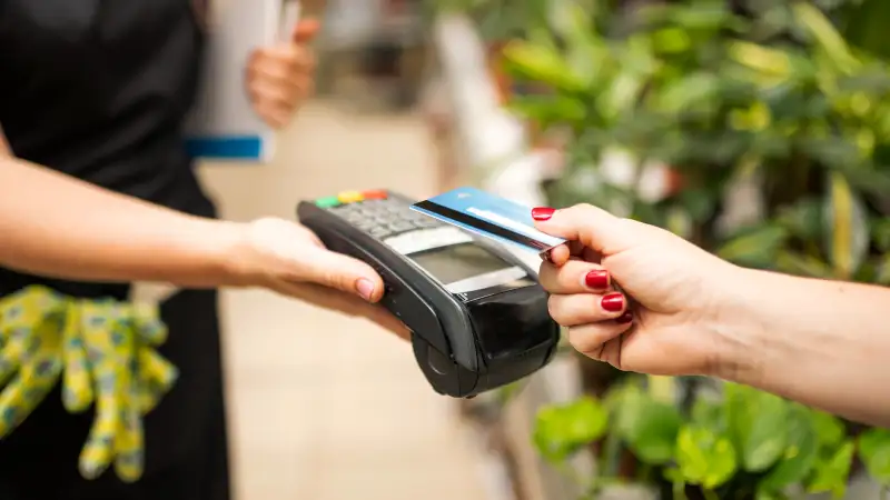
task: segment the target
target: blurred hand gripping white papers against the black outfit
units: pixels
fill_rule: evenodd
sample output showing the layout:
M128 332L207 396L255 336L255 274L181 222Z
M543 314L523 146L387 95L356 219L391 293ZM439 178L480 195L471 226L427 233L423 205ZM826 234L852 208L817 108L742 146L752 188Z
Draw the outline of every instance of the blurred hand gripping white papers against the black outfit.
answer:
M254 111L266 123L280 129L290 122L315 87L315 56L309 42L319 23L306 19L297 23L287 42L254 51L247 63L247 91Z

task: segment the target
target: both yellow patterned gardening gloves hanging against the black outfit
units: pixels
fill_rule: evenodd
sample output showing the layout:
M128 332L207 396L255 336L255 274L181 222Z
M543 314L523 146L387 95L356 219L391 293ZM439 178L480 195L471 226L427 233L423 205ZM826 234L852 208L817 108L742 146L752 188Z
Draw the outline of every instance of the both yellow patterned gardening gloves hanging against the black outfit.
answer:
M63 371L70 412L96 406L80 471L96 478L111 460L125 481L142 472L141 417L172 387L176 368L154 347L167 330L155 307L80 300L30 287L0 300L0 437L18 426ZM2 382L2 381L0 381Z

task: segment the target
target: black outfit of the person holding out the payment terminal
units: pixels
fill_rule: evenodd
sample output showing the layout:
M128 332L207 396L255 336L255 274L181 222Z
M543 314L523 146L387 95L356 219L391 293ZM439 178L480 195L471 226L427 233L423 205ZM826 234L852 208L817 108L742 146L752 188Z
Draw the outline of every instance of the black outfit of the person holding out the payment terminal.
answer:
M182 141L202 32L195 0L0 0L0 127L22 159L89 182L214 217ZM14 189L10 186L0 187ZM40 193L33 193L40 196ZM60 204L59 210L65 210ZM138 221L134 221L138 223ZM44 283L126 299L128 283L46 280L0 269L0 296ZM226 500L229 496L217 296L181 291L162 304L161 352L180 379L146 418L146 469L135 484L77 462L92 412L60 391L0 442L2 500Z

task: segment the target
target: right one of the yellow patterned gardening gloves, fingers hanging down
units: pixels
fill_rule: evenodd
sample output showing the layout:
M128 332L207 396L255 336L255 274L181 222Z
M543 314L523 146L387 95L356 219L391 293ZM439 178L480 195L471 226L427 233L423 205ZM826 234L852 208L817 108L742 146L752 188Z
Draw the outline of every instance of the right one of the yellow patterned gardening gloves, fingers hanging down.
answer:
M176 368L152 347L167 330L156 308L79 300L66 328L63 402L71 412L96 403L96 420L80 454L80 472L92 479L113 460L121 480L141 477L141 417L177 378Z

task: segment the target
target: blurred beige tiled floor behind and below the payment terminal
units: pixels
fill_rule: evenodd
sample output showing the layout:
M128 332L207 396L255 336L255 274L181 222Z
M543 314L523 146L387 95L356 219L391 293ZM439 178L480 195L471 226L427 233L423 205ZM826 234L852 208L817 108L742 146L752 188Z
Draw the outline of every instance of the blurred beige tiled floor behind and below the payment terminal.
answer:
M294 217L343 189L434 190L418 119L305 108L270 166L207 166L225 217ZM238 500L482 500L454 408L408 344L376 326L263 291L227 291L226 349Z

